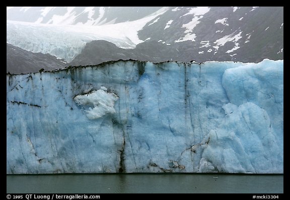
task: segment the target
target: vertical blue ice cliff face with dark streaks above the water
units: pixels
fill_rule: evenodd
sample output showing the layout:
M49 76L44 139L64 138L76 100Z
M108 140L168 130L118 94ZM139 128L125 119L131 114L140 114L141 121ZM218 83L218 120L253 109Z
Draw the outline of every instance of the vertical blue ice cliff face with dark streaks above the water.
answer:
M283 60L7 75L7 173L283 173Z

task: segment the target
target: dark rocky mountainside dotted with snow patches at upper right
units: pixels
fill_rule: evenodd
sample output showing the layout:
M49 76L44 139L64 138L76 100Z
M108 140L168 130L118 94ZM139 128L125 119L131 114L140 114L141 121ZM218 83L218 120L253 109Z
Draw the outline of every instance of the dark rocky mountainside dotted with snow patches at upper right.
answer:
M94 41L87 43L71 64L84 65L105 61L103 54L99 53L104 49L112 52L112 59L133 58L152 62L260 62L264 58L283 59L283 9L241 7L235 10L231 7L213 7L203 16L197 15L193 18L186 15L187 11L171 10L158 16L155 19L158 21L154 24L148 23L138 32L138 36L142 40L150 39L137 44L134 49L121 49L105 42ZM165 25L169 23L170 26ZM191 30L195 36L194 41L177 42L189 30L180 27L188 23L195 24ZM90 51L98 53L91 55L92 53L88 53Z

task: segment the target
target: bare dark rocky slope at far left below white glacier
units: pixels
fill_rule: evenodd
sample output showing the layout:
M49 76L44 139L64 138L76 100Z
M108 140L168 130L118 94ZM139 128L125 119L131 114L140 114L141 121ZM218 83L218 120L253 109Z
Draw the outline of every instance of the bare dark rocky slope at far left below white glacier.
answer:
M68 66L64 60L43 53L33 53L22 48L6 45L6 73L25 74L39 70L55 70Z

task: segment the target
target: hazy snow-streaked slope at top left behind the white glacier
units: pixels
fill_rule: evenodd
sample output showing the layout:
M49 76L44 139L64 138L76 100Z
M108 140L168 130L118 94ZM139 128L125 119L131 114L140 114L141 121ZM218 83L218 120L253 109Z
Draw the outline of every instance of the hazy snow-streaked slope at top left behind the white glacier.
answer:
M7 7L7 20L97 26L135 21L166 7Z

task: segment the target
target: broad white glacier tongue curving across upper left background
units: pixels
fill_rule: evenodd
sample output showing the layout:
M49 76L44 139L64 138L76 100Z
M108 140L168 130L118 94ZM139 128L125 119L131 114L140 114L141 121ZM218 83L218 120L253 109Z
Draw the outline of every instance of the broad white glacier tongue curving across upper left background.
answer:
M137 31L165 11L161 9L155 15L133 22L103 26L7 21L7 42L32 52L49 53L70 62L92 40L107 40L121 48L134 48L136 44L143 42L138 39Z

